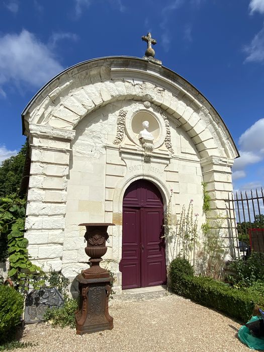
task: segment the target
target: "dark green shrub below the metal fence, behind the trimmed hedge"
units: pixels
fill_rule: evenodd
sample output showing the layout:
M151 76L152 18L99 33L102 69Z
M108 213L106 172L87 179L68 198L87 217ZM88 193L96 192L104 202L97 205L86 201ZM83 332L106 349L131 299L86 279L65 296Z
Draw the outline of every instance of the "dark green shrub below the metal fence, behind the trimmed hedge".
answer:
M228 266L228 270L233 272L226 281L236 287L250 287L257 280L264 280L264 254L253 252L247 260L232 260Z

